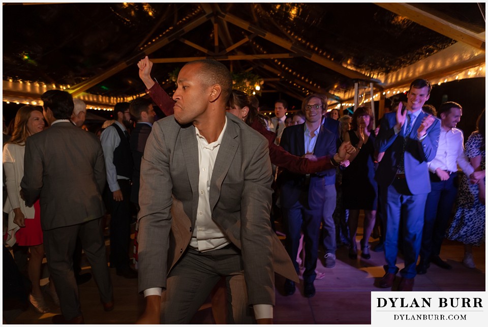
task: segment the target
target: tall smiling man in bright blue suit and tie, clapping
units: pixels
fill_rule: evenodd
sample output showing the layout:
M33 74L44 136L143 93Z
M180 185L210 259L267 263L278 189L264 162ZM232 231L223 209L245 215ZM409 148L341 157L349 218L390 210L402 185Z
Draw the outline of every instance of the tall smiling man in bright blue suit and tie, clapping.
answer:
M433 160L439 143L440 122L422 111L432 86L428 80L416 79L410 84L407 108L385 114L376 138L376 148L384 152L376 180L382 192L385 213L385 275L379 286L389 288L398 272L398 237L402 224L405 267L399 291L411 291L416 275L415 265L422 239L425 200L431 191L427 162Z

